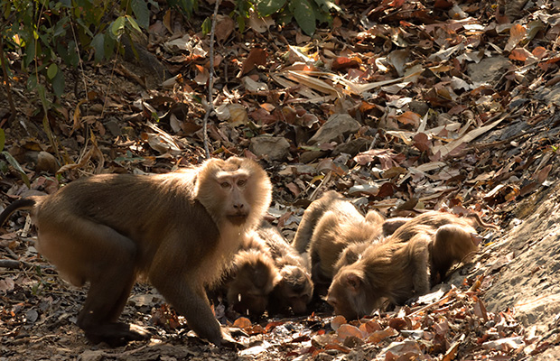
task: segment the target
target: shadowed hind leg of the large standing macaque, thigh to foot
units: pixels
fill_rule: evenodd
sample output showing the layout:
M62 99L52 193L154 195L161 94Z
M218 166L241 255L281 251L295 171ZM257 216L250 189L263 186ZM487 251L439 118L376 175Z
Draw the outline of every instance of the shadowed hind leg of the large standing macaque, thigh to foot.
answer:
M135 283L135 243L114 229L89 220L77 218L69 224L67 232L59 232L56 241L47 232L43 233L42 242L47 248L60 245L73 249L68 255L71 260L58 259L54 263L60 264L61 271L70 274L70 278L90 283L78 316L79 328L91 342L107 342L112 347L148 337L143 329L117 322ZM75 229L81 230L79 239L72 238L78 234L72 232Z

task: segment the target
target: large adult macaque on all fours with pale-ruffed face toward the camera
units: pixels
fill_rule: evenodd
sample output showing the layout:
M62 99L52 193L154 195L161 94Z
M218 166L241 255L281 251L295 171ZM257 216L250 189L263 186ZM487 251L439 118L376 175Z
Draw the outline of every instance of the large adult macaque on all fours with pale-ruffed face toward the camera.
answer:
M92 342L116 346L148 337L117 322L136 277L143 276L201 338L220 345L230 337L205 287L219 279L247 229L264 217L271 188L256 162L211 159L161 175L75 180L50 196L15 201L0 222L31 208L38 250L70 283L89 282L78 326Z

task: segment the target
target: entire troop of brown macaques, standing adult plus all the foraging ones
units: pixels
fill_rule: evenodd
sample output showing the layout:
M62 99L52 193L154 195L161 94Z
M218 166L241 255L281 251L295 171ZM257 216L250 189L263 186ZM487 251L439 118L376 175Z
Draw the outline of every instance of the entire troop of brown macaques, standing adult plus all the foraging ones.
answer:
M219 346L235 341L215 318L208 290L222 287L233 308L249 314L303 313L313 294L326 295L335 313L352 319L428 292L478 249L474 226L491 227L478 216L440 212L364 217L329 191L305 210L290 245L264 221L271 199L257 162L210 159L166 174L74 180L14 201L0 225L17 209L31 210L38 251L68 282L89 282L79 328L109 346L150 338L118 321L137 279Z

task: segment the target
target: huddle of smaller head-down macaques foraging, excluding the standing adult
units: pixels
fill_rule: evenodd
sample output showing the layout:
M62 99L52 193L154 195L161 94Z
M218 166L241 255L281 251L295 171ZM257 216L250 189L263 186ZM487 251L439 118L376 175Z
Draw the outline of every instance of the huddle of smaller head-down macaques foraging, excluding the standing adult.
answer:
M234 310L248 315L305 313L314 296L356 319L442 282L478 250L477 225L494 227L475 214L385 219L370 210L364 217L330 190L305 210L292 244L266 221L249 231L221 286Z

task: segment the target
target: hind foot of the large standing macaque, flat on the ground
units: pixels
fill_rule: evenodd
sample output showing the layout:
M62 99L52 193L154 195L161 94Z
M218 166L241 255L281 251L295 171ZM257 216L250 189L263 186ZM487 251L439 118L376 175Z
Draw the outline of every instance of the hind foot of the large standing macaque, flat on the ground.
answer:
M130 341L142 341L150 338L149 331L140 326L126 323L109 323L85 330L86 338L94 344L107 343L110 347L124 346Z

